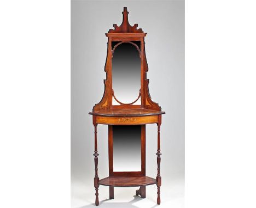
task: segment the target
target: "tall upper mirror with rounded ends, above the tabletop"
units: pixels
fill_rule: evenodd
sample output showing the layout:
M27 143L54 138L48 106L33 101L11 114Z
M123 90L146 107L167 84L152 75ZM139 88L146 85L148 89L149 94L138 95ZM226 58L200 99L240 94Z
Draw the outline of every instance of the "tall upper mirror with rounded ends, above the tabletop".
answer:
M112 53L114 95L122 103L131 103L138 98L141 89L140 44L139 47L134 42L114 42L114 44Z

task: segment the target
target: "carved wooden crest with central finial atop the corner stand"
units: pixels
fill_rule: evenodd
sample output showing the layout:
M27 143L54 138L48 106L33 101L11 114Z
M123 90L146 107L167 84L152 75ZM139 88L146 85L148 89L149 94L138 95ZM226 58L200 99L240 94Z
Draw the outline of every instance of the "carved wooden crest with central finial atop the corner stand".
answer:
M135 24L133 26L130 25L128 21L128 14L129 11L127 11L127 7L124 7L123 14L123 22L118 27L117 24L114 24L115 29L109 29L108 33L143 33L143 30L141 28L137 29L138 24Z

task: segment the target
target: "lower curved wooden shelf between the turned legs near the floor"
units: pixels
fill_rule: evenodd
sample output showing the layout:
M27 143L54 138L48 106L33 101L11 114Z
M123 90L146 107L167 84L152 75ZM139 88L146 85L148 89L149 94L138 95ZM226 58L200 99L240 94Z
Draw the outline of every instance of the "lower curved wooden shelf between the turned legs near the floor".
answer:
M109 176L98 182L103 186L148 186L156 184L156 180L148 176Z

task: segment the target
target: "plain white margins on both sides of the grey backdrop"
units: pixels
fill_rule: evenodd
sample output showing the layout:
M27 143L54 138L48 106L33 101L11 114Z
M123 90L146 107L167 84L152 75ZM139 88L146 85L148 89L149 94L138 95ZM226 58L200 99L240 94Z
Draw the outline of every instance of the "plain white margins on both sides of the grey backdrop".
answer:
M254 1L185 2L185 207L255 207ZM70 2L0 5L1 207L70 207Z

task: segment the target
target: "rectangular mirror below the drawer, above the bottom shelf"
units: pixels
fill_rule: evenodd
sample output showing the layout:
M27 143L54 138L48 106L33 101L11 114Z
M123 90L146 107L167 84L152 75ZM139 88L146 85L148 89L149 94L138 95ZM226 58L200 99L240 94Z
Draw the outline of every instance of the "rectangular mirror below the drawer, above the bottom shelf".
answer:
M141 171L141 125L113 125L113 171Z

